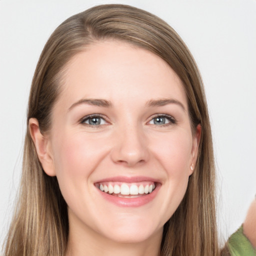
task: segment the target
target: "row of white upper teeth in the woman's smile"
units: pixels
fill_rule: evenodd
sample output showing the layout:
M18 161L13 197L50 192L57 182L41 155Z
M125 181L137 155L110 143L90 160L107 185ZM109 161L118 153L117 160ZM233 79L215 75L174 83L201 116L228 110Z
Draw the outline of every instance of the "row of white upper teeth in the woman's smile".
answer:
M105 193L109 193L109 194L121 194L121 195L138 195L139 194L147 194L147 193L151 193L154 188L155 188L155 184L147 184L145 186L143 186L142 184L140 184L139 186L137 186L136 184L131 184L130 186L127 183L122 183L121 186L114 184L114 186L112 184L99 184L98 188L105 192ZM130 198L130 196L129 196Z

